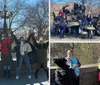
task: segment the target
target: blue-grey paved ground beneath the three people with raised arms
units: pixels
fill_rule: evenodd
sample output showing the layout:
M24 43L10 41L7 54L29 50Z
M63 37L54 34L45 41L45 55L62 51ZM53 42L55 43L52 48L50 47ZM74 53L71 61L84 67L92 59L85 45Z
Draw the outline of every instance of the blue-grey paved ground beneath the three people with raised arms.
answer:
M38 79L35 79L34 74L32 79L28 79L26 74L21 74L20 79L15 79L15 74L9 79L3 79L0 75L0 85L49 85L46 79L46 74L43 70L40 71Z

